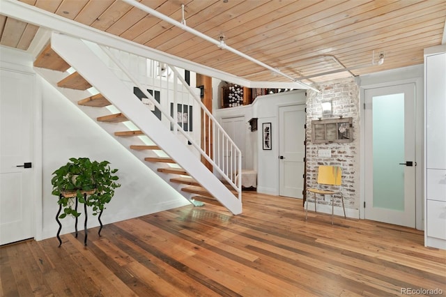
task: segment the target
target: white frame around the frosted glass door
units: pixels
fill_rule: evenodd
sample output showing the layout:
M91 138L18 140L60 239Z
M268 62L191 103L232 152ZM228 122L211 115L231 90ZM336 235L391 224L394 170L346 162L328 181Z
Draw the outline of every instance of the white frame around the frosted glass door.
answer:
M423 197L422 197L422 169L423 162L423 80L420 78L403 79L394 82L383 82L379 84L369 84L360 86L360 218L364 219L365 202L365 119L364 119L364 95L366 89L383 88L396 86L399 84L415 83L415 227L422 230L424 228L423 218Z

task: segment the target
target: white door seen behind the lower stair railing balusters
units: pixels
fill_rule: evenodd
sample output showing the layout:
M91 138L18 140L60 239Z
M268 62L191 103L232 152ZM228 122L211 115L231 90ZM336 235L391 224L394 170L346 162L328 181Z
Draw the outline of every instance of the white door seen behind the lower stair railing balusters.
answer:
M236 143L236 146L240 149L242 153L242 169L245 169L245 135L246 135L246 125L245 117L238 116L235 118L222 119L222 128L228 133L229 137ZM231 157L231 149L223 148L224 162L226 164L226 158ZM238 163L236 163L238 164Z

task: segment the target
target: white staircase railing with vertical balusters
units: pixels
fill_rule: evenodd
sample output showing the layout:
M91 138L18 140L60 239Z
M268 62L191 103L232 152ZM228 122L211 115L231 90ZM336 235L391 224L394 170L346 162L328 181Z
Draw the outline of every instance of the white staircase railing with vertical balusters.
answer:
M139 88L139 90L144 93L144 96L151 100L153 105L157 107L160 112L164 115L164 119L167 119L171 123L171 130L174 132L179 132L183 137L185 137L188 141L188 144L192 145L199 154L206 159L210 165L212 165L213 169L220 174L220 176L231 185L231 187L237 192L238 199L241 201L242 198L242 185L241 185L241 171L242 171L242 154L240 149L236 146L235 142L229 137L229 135L224 131L220 123L218 123L217 119L213 116L211 112L203 105L201 102L201 98L194 92L194 90L185 82L185 79L178 73L178 70L174 66L169 66L164 64L166 67L158 70L160 76L160 86L164 83L167 84L167 89L169 89L169 77L165 79L164 82L161 81L162 72L164 73L173 73L174 74L174 104L171 113L160 105L157 100L153 97L151 93L146 91L146 88L139 82L138 79L132 75L130 70L124 66L124 64L120 61L120 59L116 58L116 56L111 52L109 47L105 47L100 45L105 54L113 61L113 63L125 73L125 76L130 79L130 81ZM121 50L113 49L115 52L120 53ZM135 55L136 56L136 55ZM143 59L147 59L145 57L141 57ZM153 60L152 60L153 61ZM156 62L156 61L155 61ZM154 64L154 63L151 63ZM160 62L156 63L157 66L163 65ZM189 104L184 105L183 100L177 100L177 82L180 81L181 84L187 89L187 91L192 96L194 103L200 107L200 114L202 118L201 125L201 145L197 144L197 141L193 139L190 135L190 126L186 128L184 123L189 123L189 119L179 119L180 116L173 116L175 114L178 115L178 104L182 107L188 107ZM168 91L169 94L169 91ZM187 113L189 114L189 113ZM178 123L178 119L180 123ZM191 123L189 123L191 124Z

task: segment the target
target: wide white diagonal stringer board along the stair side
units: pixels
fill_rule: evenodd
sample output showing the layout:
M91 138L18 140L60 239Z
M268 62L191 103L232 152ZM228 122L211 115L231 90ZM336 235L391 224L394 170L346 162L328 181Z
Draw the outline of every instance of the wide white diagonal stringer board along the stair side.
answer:
M134 100L134 94L128 89L128 86L125 86L121 79L118 79L82 40L53 33L52 49L231 213L234 215L242 213L241 200L233 195L153 113L147 112L141 101ZM160 176L162 174L156 173ZM166 178L163 179L166 180ZM169 184L172 185L170 181ZM173 185L173 187L176 190L180 188L179 185ZM181 194L183 195L183 193ZM191 199L188 200L191 201ZM191 201L191 203L194 202Z

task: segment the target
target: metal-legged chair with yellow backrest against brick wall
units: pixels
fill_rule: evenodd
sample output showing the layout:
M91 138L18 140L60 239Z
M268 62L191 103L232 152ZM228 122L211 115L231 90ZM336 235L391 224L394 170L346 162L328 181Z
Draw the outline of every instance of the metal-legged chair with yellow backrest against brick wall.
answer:
M342 169L339 166L319 166L318 168L318 188L309 188L308 192L314 193L314 212L316 213L316 194L319 195L331 195L332 197L332 224L334 213L334 198L333 195L340 195L342 201L342 208L344 209L344 218L346 218L346 208L344 207L344 196L341 192L342 187ZM329 189L321 188L324 185L330 185ZM308 199L307 206L305 208L305 220L307 220L308 213Z

